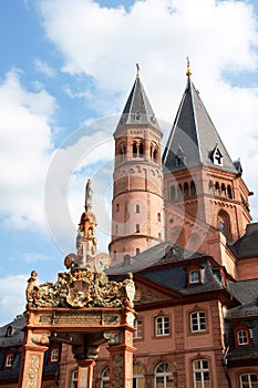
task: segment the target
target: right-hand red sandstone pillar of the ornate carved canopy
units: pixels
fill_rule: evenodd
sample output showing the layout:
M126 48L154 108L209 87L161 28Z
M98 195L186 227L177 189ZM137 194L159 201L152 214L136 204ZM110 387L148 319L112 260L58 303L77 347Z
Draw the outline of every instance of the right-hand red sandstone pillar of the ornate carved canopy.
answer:
M123 340L118 345L109 347L110 388L133 388L133 331L125 329Z

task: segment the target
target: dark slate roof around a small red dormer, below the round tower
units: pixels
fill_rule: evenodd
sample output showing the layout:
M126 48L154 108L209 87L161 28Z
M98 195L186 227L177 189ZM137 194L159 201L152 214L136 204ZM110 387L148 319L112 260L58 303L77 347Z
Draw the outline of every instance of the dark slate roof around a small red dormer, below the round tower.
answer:
M210 261L209 261L210 259ZM202 273L202 282L187 285L187 266L195 263ZM161 243L143 253L125 258L125 262L109 268L107 275L117 277L135 273L158 286L179 293L182 296L197 295L225 289L224 277L211 257L185 249L172 242Z

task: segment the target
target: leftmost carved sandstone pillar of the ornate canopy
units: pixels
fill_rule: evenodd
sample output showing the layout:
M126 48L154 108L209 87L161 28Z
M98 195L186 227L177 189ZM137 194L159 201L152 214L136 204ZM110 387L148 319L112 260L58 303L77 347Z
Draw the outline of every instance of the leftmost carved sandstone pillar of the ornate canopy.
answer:
M19 388L41 388L44 351L47 349L47 346L40 345L22 346Z

